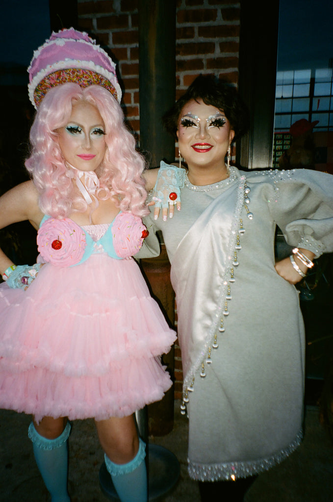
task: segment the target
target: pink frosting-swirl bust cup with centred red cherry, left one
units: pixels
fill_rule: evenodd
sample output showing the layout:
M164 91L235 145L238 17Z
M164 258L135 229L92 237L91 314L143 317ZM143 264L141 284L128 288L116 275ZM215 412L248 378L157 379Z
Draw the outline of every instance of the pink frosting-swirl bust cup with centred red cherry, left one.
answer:
M85 234L69 218L49 218L38 230L37 245L43 261L57 267L69 267L76 265L84 255Z

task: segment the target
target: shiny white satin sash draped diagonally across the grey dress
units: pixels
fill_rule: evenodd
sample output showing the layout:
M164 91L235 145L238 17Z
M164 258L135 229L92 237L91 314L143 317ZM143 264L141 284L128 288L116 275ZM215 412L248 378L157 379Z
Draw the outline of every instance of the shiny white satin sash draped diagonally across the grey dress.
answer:
M245 183L241 176L226 186L184 235L172 260L184 392L205 360L223 315Z

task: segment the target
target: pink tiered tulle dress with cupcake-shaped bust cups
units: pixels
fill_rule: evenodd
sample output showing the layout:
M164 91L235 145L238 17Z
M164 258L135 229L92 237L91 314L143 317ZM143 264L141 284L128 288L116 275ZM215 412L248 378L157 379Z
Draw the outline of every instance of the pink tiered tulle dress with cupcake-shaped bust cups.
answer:
M27 291L0 285L0 407L69 419L124 417L171 386L176 336L133 258L146 227L119 213L80 227L44 218L45 262Z

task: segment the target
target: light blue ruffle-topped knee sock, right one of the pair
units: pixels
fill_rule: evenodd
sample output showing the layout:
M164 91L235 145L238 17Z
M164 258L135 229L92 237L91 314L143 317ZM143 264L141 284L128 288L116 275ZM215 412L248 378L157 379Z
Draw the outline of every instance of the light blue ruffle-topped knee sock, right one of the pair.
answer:
M121 502L147 502L146 445L139 438L139 451L127 464L115 464L105 454L106 469L112 477Z

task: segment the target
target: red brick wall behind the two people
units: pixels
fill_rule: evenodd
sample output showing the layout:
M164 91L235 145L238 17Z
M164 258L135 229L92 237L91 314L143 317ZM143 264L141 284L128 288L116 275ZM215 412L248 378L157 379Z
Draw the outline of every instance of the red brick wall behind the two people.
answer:
M167 1L167 0L166 0ZM78 27L110 49L121 75L124 112L140 137L138 0L78 0ZM177 0L176 97L200 73L238 82L240 3ZM175 399L182 391L179 346L175 346Z

